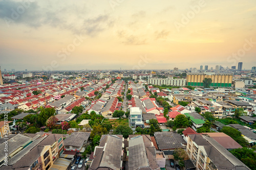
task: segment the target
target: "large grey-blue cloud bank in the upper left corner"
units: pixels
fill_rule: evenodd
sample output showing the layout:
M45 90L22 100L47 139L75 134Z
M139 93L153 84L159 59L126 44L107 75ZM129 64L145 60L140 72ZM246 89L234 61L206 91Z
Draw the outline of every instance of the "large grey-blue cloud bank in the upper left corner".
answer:
M73 34L84 32L89 36L96 36L112 27L114 23L108 14L89 17L88 12L84 10L84 5L81 4L39 5L38 3L29 0L0 1L0 18L4 20L8 18L10 23L23 24L31 28L50 26L68 30Z

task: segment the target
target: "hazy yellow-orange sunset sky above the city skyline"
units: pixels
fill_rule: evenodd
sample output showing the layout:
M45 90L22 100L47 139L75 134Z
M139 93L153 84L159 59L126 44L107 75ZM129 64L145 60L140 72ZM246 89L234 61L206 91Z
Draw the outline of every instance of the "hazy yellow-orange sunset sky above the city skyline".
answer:
M256 66L255 0L0 0L10 70Z

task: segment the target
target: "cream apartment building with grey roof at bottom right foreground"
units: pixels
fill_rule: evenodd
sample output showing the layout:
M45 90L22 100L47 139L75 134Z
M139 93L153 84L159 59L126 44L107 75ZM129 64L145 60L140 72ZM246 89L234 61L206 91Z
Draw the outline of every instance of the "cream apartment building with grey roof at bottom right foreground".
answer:
M197 169L250 169L211 137L189 134L186 151Z

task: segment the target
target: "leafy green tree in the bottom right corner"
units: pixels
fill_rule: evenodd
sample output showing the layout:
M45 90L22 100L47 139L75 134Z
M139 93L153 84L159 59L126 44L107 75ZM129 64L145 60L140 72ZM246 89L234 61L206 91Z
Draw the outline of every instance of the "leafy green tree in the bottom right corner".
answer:
M242 149L233 149L230 153L236 156L249 168L256 169L256 153L253 150L244 147Z

